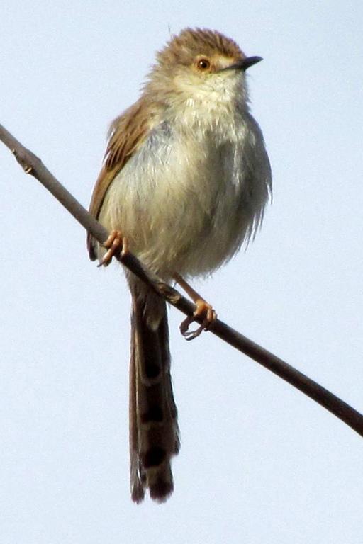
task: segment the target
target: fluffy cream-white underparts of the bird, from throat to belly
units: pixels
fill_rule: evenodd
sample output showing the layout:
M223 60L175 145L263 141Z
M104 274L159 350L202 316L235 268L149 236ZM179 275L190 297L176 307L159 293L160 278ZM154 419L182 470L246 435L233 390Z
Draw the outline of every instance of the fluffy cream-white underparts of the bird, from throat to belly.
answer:
M269 198L261 131L242 79L227 78L177 82L183 92L101 208L102 224L120 229L131 251L165 278L206 275L230 259L255 234Z

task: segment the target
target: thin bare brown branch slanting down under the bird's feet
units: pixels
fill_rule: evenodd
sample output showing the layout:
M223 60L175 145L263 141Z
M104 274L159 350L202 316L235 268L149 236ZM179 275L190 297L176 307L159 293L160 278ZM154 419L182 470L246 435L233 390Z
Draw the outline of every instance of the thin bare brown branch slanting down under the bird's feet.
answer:
M0 125L0 140L4 142L6 147L9 147L16 160L23 167L26 174L31 174L38 179L45 188L52 193L60 203L71 213L75 219L86 229L92 236L101 244L108 238L107 230L92 217L89 212L65 189L43 163L30 152L26 147L23 147L16 138L14 138L2 125ZM176 289L172 288L167 283L164 283L150 270L147 270L140 261L128 253L118 256L123 266L138 276L149 285L152 290L163 297L169 304L176 307L186 315L191 316L194 312L194 304L183 297ZM201 319L198 319L201 323ZM330 391L326 390L318 383L308 378L303 373L296 370L294 367L285 363L279 357L262 348L255 342L243 336L238 331L228 327L225 323L217 319L213 324L211 333L216 334L218 338L227 342L234 348L238 349L245 355L252 358L254 361L264 366L274 374L286 382L294 385L296 389L303 392L311 399L318 402L325 409L349 425L354 431L363 436L363 416L357 410L350 407L349 404L336 397Z

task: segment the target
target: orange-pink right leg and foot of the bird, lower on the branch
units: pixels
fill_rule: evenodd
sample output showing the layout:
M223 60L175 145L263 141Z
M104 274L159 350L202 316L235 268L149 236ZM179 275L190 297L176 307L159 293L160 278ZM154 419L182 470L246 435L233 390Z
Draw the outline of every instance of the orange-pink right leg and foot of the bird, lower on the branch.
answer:
M187 295L191 297L194 304L196 305L196 310L190 317L186 317L183 322L180 324L180 332L186 338L186 340L193 340L196 336L199 336L202 331L208 331L213 326L213 323L217 319L216 310L213 310L213 307L206 302L206 300L199 295L199 293L194 290L189 283L175 273L173 276L174 280L179 283L180 287L184 289ZM189 325L196 320L197 317L203 317L202 324L195 331L188 331Z

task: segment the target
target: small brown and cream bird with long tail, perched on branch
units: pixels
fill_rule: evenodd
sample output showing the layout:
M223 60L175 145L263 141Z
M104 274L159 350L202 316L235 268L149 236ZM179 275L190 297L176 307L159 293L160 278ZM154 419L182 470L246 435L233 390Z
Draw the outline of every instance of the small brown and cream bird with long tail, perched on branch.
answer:
M108 264L127 244L147 268L177 281L203 319L181 324L187 339L213 326L216 312L187 283L228 261L254 237L271 193L262 132L250 113L246 69L261 57L214 30L186 28L156 55L143 93L111 125L90 212L111 236L88 238ZM130 490L164 502L179 452L170 377L167 307L126 271L132 296Z

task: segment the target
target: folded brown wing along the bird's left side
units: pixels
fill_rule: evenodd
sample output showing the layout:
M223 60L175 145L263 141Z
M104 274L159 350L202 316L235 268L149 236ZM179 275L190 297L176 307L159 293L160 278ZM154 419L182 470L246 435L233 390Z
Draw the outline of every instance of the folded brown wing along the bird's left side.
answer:
M152 114L150 104L144 98L140 98L138 102L130 106L130 108L113 121L105 153L104 166L94 186L89 205L89 212L96 219L99 217L108 187L118 172L123 169L128 159L143 143L154 119L155 115ZM89 258L94 261L96 254L91 234L87 234L87 248Z

